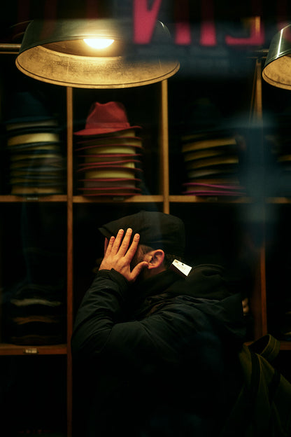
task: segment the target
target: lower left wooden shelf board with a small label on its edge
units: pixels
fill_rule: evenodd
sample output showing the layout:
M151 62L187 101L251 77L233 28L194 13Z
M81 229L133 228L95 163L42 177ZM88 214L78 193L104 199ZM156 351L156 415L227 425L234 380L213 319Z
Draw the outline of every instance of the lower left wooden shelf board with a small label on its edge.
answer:
M66 355L67 345L20 346L0 343L0 355Z

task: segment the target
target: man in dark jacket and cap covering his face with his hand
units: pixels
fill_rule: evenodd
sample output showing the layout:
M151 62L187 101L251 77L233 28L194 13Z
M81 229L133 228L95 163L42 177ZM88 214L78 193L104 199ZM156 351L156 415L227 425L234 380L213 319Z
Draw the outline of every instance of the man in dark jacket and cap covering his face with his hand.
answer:
M218 436L242 381L240 294L219 265L188 274L174 261L175 216L141 211L100 231L104 258L71 340L82 435Z

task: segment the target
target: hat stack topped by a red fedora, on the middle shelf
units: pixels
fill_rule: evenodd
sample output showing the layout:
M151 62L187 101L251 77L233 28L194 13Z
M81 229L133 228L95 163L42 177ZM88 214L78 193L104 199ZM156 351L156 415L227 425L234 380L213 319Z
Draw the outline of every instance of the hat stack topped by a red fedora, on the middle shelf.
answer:
M120 102L94 102L85 129L75 134L78 190L86 196L141 193L140 126L131 126Z

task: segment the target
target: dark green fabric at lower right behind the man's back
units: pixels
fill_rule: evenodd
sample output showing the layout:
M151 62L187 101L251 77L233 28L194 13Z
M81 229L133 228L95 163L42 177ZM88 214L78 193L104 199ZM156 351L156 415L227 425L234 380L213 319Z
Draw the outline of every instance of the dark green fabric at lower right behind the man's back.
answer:
M270 362L279 349L271 335L243 345L239 360L244 384L220 437L291 436L291 384Z

